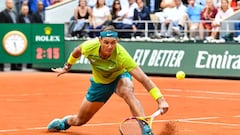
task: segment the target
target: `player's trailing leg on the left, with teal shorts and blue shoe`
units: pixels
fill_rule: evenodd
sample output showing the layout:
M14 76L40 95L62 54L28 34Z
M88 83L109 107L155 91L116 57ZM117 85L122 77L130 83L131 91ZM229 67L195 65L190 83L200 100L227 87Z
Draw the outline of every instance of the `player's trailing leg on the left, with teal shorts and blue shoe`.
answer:
M114 92L113 85L102 85L91 80L86 98L83 100L77 115L68 115L63 119L54 119L48 125L48 131L66 130L70 126L81 126L107 102Z

